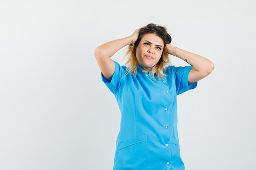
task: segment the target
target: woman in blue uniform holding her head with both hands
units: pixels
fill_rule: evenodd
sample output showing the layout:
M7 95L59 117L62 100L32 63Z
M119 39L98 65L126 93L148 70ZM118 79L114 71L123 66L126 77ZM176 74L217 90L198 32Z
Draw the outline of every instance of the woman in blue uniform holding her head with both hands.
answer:
M110 57L129 45L128 66ZM175 55L190 66L169 65ZM213 62L171 45L164 26L148 24L94 51L102 81L121 111L113 170L184 170L177 132L177 95L194 89ZM124 65L126 65L124 64Z

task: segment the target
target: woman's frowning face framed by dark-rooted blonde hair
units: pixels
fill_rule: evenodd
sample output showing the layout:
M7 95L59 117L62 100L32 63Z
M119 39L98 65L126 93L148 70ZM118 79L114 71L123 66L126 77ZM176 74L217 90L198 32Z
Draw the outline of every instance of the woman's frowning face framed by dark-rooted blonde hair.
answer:
M143 72L149 73L149 70L157 64L163 47L162 38L153 33L144 34L136 48L136 58Z

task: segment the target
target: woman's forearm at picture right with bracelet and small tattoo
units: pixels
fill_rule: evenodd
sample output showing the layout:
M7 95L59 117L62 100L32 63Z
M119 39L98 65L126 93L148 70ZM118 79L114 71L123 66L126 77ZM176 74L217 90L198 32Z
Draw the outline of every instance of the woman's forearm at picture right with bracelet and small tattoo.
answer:
M175 46L169 46L168 51L169 54L174 55ZM213 71L213 62L200 55L182 50L180 48L176 48L176 57L184 60L185 62L193 66L193 68L197 71L206 71L208 73L211 73Z

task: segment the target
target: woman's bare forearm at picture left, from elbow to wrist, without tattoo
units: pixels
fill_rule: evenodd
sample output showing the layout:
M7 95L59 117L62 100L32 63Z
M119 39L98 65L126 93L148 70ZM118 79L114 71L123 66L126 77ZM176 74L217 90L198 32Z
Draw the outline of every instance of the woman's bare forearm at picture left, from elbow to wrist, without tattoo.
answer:
M134 41L134 39L131 36L112 40L110 42L106 42L100 46L98 46L96 49L101 51L104 55L107 55L108 57L112 57L117 51L119 51L124 46L127 46L131 43L131 41Z

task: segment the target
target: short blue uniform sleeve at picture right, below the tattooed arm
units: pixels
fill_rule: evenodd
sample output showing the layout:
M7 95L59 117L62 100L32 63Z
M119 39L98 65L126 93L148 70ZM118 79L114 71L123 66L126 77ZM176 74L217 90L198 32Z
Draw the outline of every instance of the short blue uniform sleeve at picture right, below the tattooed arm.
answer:
M198 82L189 84L189 71L192 66L173 67L177 95L194 89Z

